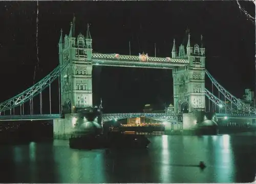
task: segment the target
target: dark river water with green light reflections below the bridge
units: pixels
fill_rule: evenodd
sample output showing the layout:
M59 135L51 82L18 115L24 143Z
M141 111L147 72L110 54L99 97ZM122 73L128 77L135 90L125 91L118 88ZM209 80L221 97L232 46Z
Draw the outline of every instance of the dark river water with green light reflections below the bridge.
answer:
M252 182L256 133L152 136L145 150L76 150L69 142L0 147L0 182ZM201 170L200 161L206 164Z

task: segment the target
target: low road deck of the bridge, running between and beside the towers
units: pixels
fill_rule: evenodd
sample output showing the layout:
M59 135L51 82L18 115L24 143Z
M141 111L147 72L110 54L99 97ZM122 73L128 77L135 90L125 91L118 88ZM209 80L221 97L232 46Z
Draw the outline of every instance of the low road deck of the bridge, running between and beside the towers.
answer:
M0 116L0 121L25 121L25 120L53 120L62 118L59 114L44 114L44 115L4 115ZM147 117L156 120L162 120L167 122L181 121L181 114L166 114L166 113L115 113L115 114L103 114L103 121L113 121L125 118L134 117ZM216 113L217 118L232 118L232 119L256 119L254 114L220 114Z

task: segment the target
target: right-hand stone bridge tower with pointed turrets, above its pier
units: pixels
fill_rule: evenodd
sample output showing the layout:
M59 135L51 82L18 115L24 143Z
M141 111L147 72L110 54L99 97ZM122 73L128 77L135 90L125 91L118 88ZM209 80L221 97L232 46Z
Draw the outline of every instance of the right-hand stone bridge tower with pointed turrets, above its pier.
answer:
M201 46L190 45L190 35L186 46L179 47L177 55L175 40L172 58L183 58L189 61L185 67L173 69L174 108L175 113L192 113L205 110L205 48L201 36Z

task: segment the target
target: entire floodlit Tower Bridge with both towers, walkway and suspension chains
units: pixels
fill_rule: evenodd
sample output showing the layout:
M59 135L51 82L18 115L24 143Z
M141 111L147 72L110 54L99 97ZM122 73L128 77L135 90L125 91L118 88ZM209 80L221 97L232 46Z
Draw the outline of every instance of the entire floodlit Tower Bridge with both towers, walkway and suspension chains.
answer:
M93 107L93 66L117 66L137 68L172 69L174 86L174 113L118 113L103 114L101 123L130 117L150 117L165 122L178 122L183 129L190 129L206 112L214 112L219 120L255 120L256 110L233 96L222 87L205 69L205 47L203 37L200 44L191 44L190 35L186 50L180 45L177 50L175 40L170 56L151 57L119 54L99 54L93 51L89 26L86 36L75 36L74 20L68 35L61 30L58 43L59 65L41 81L24 92L0 103L0 121L48 120L54 121L55 135L69 135L87 120L79 114L84 108ZM205 88L205 77L209 77L212 89ZM51 107L51 84L58 78L59 113L53 114ZM218 90L214 94L213 86ZM42 93L49 89L49 113L42 113ZM218 97L217 97L218 96ZM34 104L39 99L39 104ZM230 103L227 104L226 100ZM27 103L26 103L27 102ZM39 112L35 112L39 106ZM25 112L29 112L26 114ZM200 116L200 117L199 117ZM202 117L201 117L202 116ZM76 120L74 120L77 118ZM80 118L80 119L79 119ZM79 120L78 120L79 119ZM210 119L210 118L208 118ZM75 123L74 123L75 121ZM76 124L76 125L74 125Z

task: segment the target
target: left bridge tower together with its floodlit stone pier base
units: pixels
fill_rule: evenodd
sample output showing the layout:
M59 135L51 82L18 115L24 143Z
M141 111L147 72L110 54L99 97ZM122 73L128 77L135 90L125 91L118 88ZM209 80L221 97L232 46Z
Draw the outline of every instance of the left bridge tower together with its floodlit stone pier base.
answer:
M101 117L88 116L93 112L92 37L89 24L86 36L75 36L75 17L69 35L59 38L59 64L69 65L60 74L61 112L63 119L54 120L54 137L68 139L72 134L84 134L100 128Z

